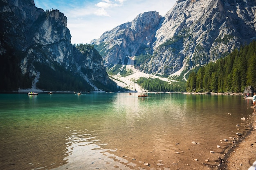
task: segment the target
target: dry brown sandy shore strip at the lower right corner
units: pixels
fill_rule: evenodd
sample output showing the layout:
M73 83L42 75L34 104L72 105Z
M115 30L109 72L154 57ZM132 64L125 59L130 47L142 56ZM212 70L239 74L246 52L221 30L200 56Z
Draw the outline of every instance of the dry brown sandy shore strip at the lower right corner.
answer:
M249 131L245 138L229 150L225 159L225 167L222 166L219 169L248 170L256 161L256 109L254 109L247 127Z

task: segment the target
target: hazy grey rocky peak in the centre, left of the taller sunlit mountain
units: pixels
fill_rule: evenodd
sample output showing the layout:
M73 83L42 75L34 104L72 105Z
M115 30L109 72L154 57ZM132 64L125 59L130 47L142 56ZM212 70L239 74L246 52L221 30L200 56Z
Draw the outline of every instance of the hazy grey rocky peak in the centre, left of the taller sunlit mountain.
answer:
M126 22L106 31L99 39L92 40L95 46L103 47L105 64L128 64L128 58L134 55L152 53L155 33L162 16L158 12L139 14L132 22ZM97 47L95 47L97 49Z

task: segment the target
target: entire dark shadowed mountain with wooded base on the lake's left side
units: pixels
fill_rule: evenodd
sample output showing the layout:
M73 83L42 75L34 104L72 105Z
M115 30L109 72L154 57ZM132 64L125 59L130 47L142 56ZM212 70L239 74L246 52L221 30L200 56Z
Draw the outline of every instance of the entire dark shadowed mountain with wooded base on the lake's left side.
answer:
M33 0L0 0L1 91L116 91L98 51L73 46L67 18Z

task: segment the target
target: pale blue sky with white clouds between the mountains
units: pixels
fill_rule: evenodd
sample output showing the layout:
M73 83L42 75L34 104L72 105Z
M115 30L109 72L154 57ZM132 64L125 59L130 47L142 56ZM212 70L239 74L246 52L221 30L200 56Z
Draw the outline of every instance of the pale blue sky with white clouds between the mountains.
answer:
M36 7L58 9L67 17L71 43L90 43L105 31L132 21L138 14L169 11L176 0L34 0Z

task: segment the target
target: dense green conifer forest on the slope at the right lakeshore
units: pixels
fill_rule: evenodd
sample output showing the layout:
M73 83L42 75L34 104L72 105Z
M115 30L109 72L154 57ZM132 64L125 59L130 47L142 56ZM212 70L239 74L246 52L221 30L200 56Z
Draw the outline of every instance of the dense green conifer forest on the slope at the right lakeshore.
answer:
M235 49L227 57L192 70L186 82L190 92L243 92L256 87L256 42Z

